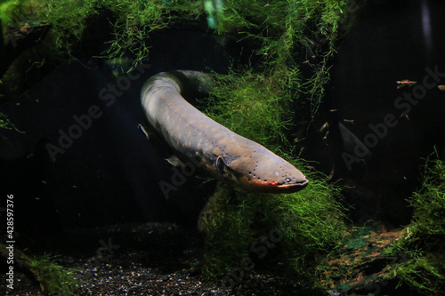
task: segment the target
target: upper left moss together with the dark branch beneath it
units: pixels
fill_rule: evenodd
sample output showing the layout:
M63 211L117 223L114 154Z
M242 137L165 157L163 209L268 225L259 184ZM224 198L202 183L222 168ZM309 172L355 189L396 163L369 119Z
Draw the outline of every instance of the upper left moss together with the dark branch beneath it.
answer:
M13 42L5 35L6 26L51 28L38 46L9 60L12 65L0 76L0 99L13 100L61 62L78 57L130 58L133 67L127 71L131 71L148 59L151 32L176 23L181 28L205 28L199 19L203 12L202 2L190 0L8 1L0 5L4 44Z

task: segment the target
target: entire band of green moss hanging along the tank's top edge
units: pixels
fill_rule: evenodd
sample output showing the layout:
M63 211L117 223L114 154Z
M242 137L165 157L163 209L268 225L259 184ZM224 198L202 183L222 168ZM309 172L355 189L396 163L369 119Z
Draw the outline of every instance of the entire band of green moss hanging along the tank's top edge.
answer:
M99 55L131 56L134 65L148 59L151 32L174 26L206 30L205 17L214 18L215 34L248 38L257 44L255 54L261 59L253 65L255 69L286 85L293 98L308 99L313 117L328 81L336 38L346 20L345 6L344 0L28 0L8 2L9 8L3 11L8 12L5 18L12 25L25 21L51 24L45 39L59 50L52 55L71 58L85 28L92 26L91 20L106 15L109 28L90 28L109 38L108 48ZM300 84L303 62L311 70Z

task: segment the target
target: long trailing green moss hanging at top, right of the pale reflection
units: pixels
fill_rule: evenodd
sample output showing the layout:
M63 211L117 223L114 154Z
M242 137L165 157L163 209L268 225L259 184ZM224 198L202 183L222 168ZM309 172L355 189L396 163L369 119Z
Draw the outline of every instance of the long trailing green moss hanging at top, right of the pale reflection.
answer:
M218 34L237 32L260 44L256 54L262 57L263 74L280 76L292 97L309 100L313 118L329 80L329 62L336 53L340 27L347 20L346 2L228 0L216 15ZM302 84L293 84L299 83L295 75L303 62L311 70Z

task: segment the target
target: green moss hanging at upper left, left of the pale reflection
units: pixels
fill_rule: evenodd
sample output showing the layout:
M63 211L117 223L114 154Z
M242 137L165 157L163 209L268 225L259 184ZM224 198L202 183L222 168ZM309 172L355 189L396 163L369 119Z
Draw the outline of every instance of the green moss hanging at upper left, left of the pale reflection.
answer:
M130 55L135 58L134 64L147 59L149 48L145 42L150 32L167 28L175 20L196 20L204 12L200 2L187 0L25 0L10 1L0 8L0 16L12 26L50 23L53 28L47 38L59 54L68 53L69 57L92 20L110 12L109 28L90 28L101 31L101 36L110 35L109 49L101 52L101 57Z

